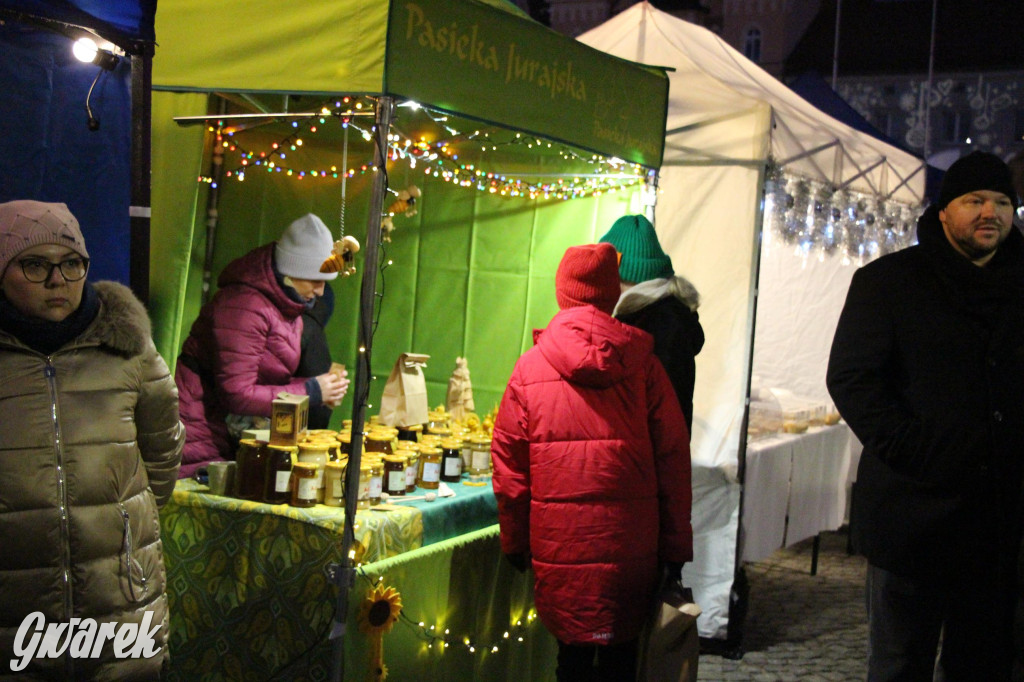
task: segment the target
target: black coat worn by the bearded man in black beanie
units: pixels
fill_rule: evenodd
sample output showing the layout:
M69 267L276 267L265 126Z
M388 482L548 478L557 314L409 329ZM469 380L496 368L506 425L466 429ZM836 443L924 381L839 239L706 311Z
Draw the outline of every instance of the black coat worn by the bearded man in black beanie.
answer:
M854 274L828 360L828 390L864 444L854 544L903 576L1013 565L1024 240L1011 230L978 267L949 245L934 207L918 237Z

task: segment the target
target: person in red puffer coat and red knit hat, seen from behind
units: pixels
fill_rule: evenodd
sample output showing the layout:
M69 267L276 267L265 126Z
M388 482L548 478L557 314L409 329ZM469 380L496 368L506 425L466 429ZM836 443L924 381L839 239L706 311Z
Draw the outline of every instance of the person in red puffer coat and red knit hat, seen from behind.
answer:
M611 245L565 252L561 310L495 422L502 550L534 569L560 681L634 679L659 566L693 558L686 422L651 336L610 316L618 293Z

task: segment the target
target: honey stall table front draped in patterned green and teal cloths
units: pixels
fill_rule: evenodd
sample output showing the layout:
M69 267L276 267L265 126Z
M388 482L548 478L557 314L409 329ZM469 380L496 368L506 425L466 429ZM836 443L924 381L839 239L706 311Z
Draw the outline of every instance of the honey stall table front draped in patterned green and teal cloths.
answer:
M480 666L520 673L537 667L536 675L522 679L542 679L541 669L554 670L550 636L539 624L527 633L526 626L534 623L531 578L510 571L502 560L492 486L451 486L453 498L356 514L356 550L362 565L349 599L346 679L366 677L369 654L366 635L358 629L358 607L367 588L381 579L402 593L403 613L416 623L446 624L452 632L488 642L485 655L468 650L440 653L442 643L428 646L431 631L403 619L385 640L385 659L395 673L470 679L451 675L479 672ZM418 489L416 495L425 493ZM326 569L340 562L344 516L343 508L247 502L179 480L161 510L170 600L170 678L328 679L328 634L338 592ZM489 642L504 639L516 622L523 623L520 630L532 639L517 642L517 651L502 654L502 663L498 652L490 652ZM431 662L433 657L437 660ZM429 671L436 671L436 677Z

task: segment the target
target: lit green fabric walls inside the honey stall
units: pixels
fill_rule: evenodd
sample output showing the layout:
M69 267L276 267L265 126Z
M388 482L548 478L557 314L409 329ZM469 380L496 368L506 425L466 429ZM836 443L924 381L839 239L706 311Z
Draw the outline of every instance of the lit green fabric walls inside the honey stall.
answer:
M186 105L163 106L165 97L182 95L156 93L155 112L167 118L173 109L174 115L182 115ZM197 106L196 101L188 104ZM153 263L155 334L158 347L172 364L203 300L209 191L209 185L196 179L197 168L205 173L203 164L209 164L208 159L197 164L202 130L174 132L172 142L154 150ZM325 164L342 166L338 148L315 154ZM354 155L348 161L356 168L365 163ZM393 189L415 183L423 196L417 215L394 217L392 242L382 245L380 260L391 264L377 281L382 296L376 303L379 323L367 414L377 414L384 382L398 354L413 351L431 356L424 371L431 407L444 401L456 357L467 357L476 410L482 416L498 404L516 358L532 345L532 329L546 326L557 311L554 273L565 249L593 242L618 216L638 212L639 195L626 190L567 202L506 199L426 177L401 161L389 164L388 172ZM345 232L365 244L373 176L357 173L348 179L344 207L340 179L299 179L264 171L250 171L245 181L225 179L219 189L214 283L230 260L275 240L306 212L317 214L339 233L344 208ZM193 210L195 219L189 218ZM157 252L158 243L163 253ZM185 253L190 254L187 261ZM328 327L332 354L349 368L351 379L364 255L360 252L356 258L359 271L354 276L331 283L336 295ZM349 395L335 411L333 425L350 417L351 410Z

